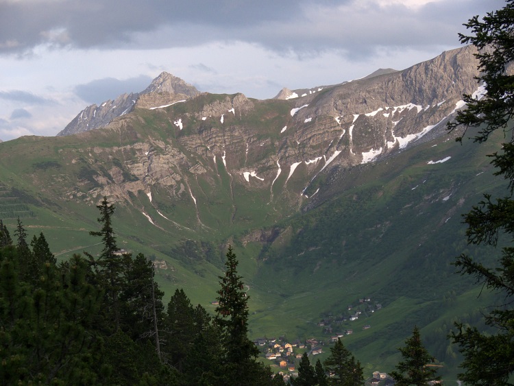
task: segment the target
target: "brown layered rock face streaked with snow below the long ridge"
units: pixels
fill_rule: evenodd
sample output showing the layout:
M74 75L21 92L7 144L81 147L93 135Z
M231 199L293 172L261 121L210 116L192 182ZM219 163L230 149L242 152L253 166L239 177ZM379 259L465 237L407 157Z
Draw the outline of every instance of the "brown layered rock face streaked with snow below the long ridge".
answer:
M80 134L87 136L84 143L108 143L99 137L110 136L125 145L85 149L82 162L95 169L94 177L66 196L131 201L141 192L160 192L170 202L197 206L196 197L210 199L209 189L226 178L227 192L251 189L270 200L300 202L317 193L313 181L320 173L376 162L445 134L445 121L463 107L461 95L479 88L473 53L463 47L404 71L301 95L284 89L264 101L243 94L191 98L182 82L169 86L165 77L136 99L136 107L154 110L136 109L103 130ZM106 162L103 169L95 166L99 160Z

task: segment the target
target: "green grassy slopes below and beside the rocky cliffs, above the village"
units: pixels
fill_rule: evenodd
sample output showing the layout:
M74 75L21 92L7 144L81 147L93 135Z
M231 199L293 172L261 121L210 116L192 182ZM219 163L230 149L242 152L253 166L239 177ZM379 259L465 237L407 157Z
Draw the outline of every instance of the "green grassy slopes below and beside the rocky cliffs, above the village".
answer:
M280 128L285 122L277 117L289 106L273 106L276 114L263 121L256 114L245 124L270 128L271 122L273 130ZM121 147L148 134L180 147L176 134L185 135L193 125L177 133L169 121L175 109L177 113L197 110L193 107L177 104L157 114L140 111L140 120L125 132L95 130L83 136L0 143L4 222L13 229L19 213L30 236L44 232L58 258L82 250L98 253L99 240L88 234L97 229L97 209L76 191L69 198L70 186L79 181L79 191L95 188L93 176L108 176L103 169L119 165L127 155ZM236 119L228 114L229 118ZM116 149L111 158L101 158L86 154L84 142ZM367 370L392 370L398 359L396 348L417 324L428 348L445 363L443 372L452 377L458 356L445 336L457 319L480 319L482 298L476 300L478 290L472 281L454 274L451 263L465 251L485 262L495 256L491 250L470 248L461 224L461 213L476 204L483 192L504 194L503 181L492 176L485 157L494 147L494 141L457 145L443 138L382 162L319 176L316 189L320 195L330 189L331 197L306 212L296 212L280 198L286 173L273 186L275 198L270 202L270 191L234 184L234 176L217 159L216 175L187 175L197 206L191 195L172 200L155 189L149 202L141 191L130 197L131 202L118 204L114 227L120 248L167 263L167 269L158 270L166 298L182 287L193 303L209 311L214 310L210 302L216 297L226 245L232 243L250 295L252 337L326 340L330 334L317 326L322 318L361 310L358 320L332 322L332 327L334 333L354 330L344 338L345 344ZM448 156L446 162L427 163ZM269 241L251 237L260 228L273 228L278 237ZM363 297L371 299L369 304L358 303ZM487 301L483 299L484 304ZM382 309L377 309L377 303ZM348 311L349 305L354 311ZM363 330L368 324L371 327Z

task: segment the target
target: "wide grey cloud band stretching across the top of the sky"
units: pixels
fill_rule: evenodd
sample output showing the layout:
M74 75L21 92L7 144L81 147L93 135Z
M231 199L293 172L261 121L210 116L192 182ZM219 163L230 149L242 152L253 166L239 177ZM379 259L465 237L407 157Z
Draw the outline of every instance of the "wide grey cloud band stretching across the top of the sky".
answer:
M2 2L0 53L21 53L41 43L140 49L243 40L279 52L336 49L360 58L380 47L458 45L454 25L474 16L469 10L485 14L504 6L504 1L452 0L419 9L395 5L363 10L365 4L358 0Z

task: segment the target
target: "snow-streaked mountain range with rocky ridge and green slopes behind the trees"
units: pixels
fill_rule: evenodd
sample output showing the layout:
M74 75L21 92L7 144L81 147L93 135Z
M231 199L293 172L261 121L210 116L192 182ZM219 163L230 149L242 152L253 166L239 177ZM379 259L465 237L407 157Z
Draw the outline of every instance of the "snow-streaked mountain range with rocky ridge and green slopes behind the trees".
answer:
M463 47L265 100L162 73L56 137L1 143L0 218L45 232L58 258L94 254L106 196L119 245L154 261L167 296L183 287L209 305L231 244L253 337L352 330L345 345L366 369L389 371L417 324L452 376L445 337L487 300L452 259L493 256L466 244L459 214L502 189L485 157L494 141L458 145L445 130L464 93L482 96L477 64ZM362 316L344 319L351 309Z

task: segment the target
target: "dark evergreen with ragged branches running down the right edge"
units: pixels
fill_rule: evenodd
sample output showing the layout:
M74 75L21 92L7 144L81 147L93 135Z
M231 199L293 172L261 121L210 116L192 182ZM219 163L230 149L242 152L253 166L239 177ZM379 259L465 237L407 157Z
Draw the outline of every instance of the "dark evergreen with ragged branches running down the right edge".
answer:
M483 18L474 16L465 26L472 34L460 34L460 40L478 49L476 58L480 62L480 75L477 80L487 93L482 99L464 95L466 110L458 112L455 121L448 126L450 130L464 126L478 143L487 141L493 132L504 134L501 149L490 157L498 169L495 174L509 182L509 195L493 200L486 194L484 200L464 217L469 243L496 246L501 234L511 241L514 238L514 1L507 0L504 8L489 12ZM462 141L462 138L458 140ZM502 248L498 267L486 267L466 254L458 256L455 265L461 274L469 274L481 285L500 293L500 302L507 304L487 315L486 322L493 329L492 333L485 334L475 327L456 324L457 330L451 337L464 355L461 367L465 370L459 374L459 379L469 385L511 385L509 379L514 372L514 310L511 308L514 248Z

